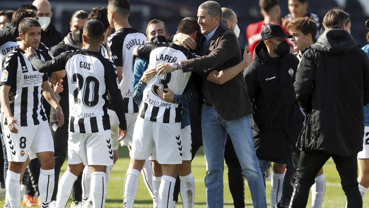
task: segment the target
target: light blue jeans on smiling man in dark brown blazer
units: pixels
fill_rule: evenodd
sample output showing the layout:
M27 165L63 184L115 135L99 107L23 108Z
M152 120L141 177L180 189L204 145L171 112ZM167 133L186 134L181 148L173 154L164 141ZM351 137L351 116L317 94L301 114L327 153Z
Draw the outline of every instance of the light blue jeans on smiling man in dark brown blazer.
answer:
M263 177L254 149L251 115L232 121L224 120L213 107L201 110L204 154L206 159L205 187L208 208L223 207L224 147L227 133L247 179L254 207L267 208Z

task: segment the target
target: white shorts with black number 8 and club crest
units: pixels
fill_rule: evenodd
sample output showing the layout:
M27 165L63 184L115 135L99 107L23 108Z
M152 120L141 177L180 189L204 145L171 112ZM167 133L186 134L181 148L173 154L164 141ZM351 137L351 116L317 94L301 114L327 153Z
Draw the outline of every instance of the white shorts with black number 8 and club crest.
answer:
M25 162L27 155L32 160L37 158L36 153L54 152L54 140L47 121L40 121L40 124L33 126L15 127L18 134L10 132L8 125L4 125L8 161Z

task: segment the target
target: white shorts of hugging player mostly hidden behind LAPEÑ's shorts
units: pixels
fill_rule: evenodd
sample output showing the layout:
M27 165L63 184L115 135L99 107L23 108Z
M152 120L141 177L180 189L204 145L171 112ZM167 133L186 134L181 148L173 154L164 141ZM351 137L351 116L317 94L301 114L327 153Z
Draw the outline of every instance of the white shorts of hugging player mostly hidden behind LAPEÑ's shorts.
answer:
M192 138L190 125L181 128L181 140L182 140L182 160L192 159ZM156 160L156 148L152 151L149 160Z

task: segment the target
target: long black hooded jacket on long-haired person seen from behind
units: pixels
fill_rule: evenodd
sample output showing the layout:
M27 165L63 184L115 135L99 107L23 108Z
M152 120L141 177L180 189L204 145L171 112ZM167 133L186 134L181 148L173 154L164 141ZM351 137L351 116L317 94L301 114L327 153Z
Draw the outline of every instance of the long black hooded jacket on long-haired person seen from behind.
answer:
M350 157L363 148L363 106L369 103L369 60L345 30L307 47L294 83L306 125L297 145Z

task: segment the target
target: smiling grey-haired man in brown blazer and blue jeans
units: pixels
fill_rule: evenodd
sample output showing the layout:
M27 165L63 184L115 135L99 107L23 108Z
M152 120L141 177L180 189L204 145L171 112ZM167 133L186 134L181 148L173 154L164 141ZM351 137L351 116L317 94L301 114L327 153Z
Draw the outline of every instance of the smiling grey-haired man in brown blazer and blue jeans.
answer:
M231 136L237 157L251 191L254 207L266 208L265 188L251 132L253 113L242 76L241 50L234 32L221 23L222 10L215 1L206 1L197 11L203 36L196 52L202 57L178 63L162 63L157 73L182 69L203 77L201 127L206 159L207 207L223 207L224 146ZM248 60L249 62L249 60Z

